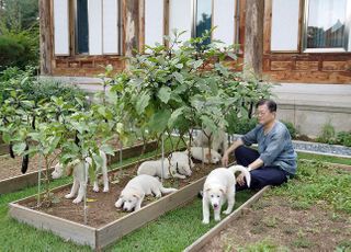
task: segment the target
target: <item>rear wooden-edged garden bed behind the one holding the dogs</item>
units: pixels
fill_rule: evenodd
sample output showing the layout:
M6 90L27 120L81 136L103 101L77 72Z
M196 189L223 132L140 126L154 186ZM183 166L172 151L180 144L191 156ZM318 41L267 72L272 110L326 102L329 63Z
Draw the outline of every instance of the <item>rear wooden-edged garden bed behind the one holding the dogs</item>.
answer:
M149 152L155 150L157 142L151 141L147 144L145 152ZM143 145L136 145L132 147L124 148L122 150L122 157L123 159L128 159L132 157L137 157L141 153ZM3 177L0 176L0 194L11 193L21 188L24 188L26 186L36 185L37 184L37 176L38 171L37 169L37 160L33 158L30 161L30 168L29 172L26 174L20 173L20 167L21 167L21 158L18 157L15 160L12 160L10 157L0 157L0 159L3 159L5 163L9 163L10 167L2 164L1 170L4 170L5 174L12 174L11 177ZM10 159L10 160L9 160ZM120 161L120 150L115 151L115 156L109 157L109 164L113 162ZM9 170L15 170L13 173L9 172Z

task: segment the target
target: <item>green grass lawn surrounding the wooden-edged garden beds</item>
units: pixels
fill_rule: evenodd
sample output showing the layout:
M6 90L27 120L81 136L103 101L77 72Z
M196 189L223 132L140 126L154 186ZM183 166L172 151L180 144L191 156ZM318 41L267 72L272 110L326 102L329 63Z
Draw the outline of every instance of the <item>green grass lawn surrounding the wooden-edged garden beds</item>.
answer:
M148 153L147 156L151 156ZM291 183L274 188L275 195L288 196L296 202L296 207L309 207L318 201L326 201L331 210L351 214L350 181L351 175L344 171L330 170L320 161L343 163L340 158L325 159L315 154L299 154L299 158L314 159L315 162L299 162L299 172ZM123 164L132 162L126 160ZM116 165L118 165L117 163ZM346 163L348 164L348 163ZM115 167L115 165L114 165ZM52 183L52 187L70 182L65 177ZM36 230L19 224L8 216L8 203L36 193L36 186L21 192L0 196L0 251L91 251L88 247L75 245L71 242L47 231ZM249 193L237 194L237 205L250 197ZM107 247L106 251L181 251L215 225L202 225L201 201L179 207L145 227L132 232L121 241Z

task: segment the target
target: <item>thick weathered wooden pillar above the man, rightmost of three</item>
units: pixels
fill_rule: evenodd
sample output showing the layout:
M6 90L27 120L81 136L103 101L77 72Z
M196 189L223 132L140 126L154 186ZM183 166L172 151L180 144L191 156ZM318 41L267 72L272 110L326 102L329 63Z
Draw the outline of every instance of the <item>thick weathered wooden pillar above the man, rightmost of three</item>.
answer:
M246 0L245 71L262 75L264 1Z

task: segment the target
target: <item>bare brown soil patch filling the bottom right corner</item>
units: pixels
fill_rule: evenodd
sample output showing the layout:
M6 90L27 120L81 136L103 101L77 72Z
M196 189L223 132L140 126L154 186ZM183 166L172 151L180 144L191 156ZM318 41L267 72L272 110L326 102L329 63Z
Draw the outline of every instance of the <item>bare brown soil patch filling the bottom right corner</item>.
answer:
M296 209L285 198L263 197L202 251L263 251L262 243L264 251L351 251L351 219L320 205Z

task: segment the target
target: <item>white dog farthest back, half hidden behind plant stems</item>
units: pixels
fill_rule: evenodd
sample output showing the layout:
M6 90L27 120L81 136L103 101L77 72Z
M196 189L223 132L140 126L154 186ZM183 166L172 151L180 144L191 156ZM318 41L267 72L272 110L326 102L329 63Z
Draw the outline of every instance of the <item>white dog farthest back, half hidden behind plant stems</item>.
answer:
M205 133L201 130L197 136L193 140L194 147L208 147L208 137L211 135L210 129L205 129ZM228 134L226 134L223 129L219 129L217 134L213 134L211 136L212 139L212 149L217 152L224 153L228 149Z

